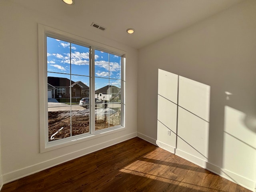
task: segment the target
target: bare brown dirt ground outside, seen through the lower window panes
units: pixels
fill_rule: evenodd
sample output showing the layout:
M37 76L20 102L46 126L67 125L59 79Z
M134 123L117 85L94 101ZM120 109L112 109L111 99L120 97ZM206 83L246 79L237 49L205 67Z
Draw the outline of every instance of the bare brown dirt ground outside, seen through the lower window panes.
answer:
M108 123L109 121L111 123ZM72 136L88 133L90 131L89 123L88 111L72 111ZM111 114L109 117L106 116L106 113L98 114L95 117L95 130L116 125L120 125L120 112ZM60 131L58 132L58 130ZM58 133L55 134L56 132ZM48 112L48 140L52 141L67 137L70 137L70 111Z

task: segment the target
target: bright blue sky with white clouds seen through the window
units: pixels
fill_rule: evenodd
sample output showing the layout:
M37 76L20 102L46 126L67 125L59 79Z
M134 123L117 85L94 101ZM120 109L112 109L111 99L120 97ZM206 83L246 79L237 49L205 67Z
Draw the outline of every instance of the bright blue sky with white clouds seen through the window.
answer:
M47 37L47 71L89 86L89 48ZM108 84L121 86L121 57L95 50L95 90Z

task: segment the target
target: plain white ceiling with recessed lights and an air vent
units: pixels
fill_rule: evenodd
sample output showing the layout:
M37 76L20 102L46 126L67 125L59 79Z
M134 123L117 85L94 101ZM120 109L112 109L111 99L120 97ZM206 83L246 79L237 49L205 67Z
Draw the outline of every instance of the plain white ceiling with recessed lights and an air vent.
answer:
M243 0L12 0L134 48L142 48ZM104 26L102 31L90 26ZM134 28L134 34L127 34Z

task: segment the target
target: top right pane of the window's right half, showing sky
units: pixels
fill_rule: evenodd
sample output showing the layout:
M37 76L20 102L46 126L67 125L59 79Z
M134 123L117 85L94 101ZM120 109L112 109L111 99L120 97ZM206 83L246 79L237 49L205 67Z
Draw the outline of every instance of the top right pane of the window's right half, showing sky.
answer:
M110 54L109 60L110 78L121 79L122 57Z

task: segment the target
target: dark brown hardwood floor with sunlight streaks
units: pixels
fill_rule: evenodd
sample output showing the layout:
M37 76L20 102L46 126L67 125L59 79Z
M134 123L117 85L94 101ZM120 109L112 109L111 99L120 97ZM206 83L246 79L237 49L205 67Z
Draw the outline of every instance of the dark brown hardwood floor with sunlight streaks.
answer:
M10 191L250 192L140 138L4 184Z

